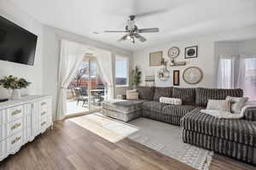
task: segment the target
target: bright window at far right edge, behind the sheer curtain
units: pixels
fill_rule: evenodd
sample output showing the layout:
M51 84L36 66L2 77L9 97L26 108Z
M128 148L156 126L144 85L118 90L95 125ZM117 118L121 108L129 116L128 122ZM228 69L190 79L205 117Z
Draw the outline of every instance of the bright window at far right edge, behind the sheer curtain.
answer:
M256 101L256 57L245 59L244 95Z

